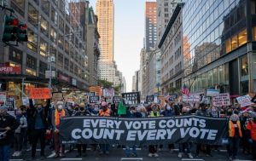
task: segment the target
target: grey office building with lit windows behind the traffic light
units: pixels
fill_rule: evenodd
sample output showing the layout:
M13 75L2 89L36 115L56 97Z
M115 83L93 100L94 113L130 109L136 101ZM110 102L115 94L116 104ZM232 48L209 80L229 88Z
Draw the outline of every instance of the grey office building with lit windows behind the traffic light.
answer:
M19 46L6 46L0 42L1 68L15 69L13 73L1 70L0 90L24 89L27 95L32 87L48 87L49 78L45 77L45 71L49 70L49 56L55 57L55 62L51 63L58 81L54 85L55 90L63 87L89 89L88 75L84 74L88 69L84 33L77 30L82 26L79 20L75 20L67 1L4 2L6 7L15 10L15 17L27 24L28 41L19 43ZM0 21L3 22L3 15L9 15L9 11L3 9L0 14ZM3 26L0 26L0 31L3 31ZM9 95L17 95L16 101L21 102L20 92Z

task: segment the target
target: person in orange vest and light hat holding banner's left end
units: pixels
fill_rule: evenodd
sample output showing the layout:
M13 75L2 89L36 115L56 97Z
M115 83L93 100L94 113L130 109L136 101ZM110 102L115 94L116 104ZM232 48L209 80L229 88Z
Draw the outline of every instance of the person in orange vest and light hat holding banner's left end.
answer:
M51 115L51 123L54 130L54 139L55 139L55 158L58 157L65 157L65 147L61 144L60 140L60 121L61 118L67 117L68 112L66 109L63 108L63 102L58 101L55 104L55 111ZM60 152L61 150L61 152Z

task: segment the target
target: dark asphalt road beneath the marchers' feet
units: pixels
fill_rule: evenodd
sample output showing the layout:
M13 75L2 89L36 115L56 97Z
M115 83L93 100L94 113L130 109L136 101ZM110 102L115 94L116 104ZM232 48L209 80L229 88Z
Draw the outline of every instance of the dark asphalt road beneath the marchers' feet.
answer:
M189 161L189 160L198 160L198 161L222 161L222 160L229 160L227 158L227 152L224 150L224 148L219 148L219 151L212 150L213 157L207 157L206 154L203 152L200 153L198 158L190 159L186 154L183 154L183 158L177 157L177 149L174 151L169 151L166 148L158 152L159 157L158 158L149 158L148 157L148 149L145 148L138 148L137 150L137 158L125 158L125 150L122 148L112 147L110 150L110 153L108 155L103 154L100 155L98 151L92 151L90 147L89 150L86 152L87 155L85 157L79 157L77 158L77 150L74 149L73 151L66 150L66 157L65 158L54 158L55 152L53 150L50 150L49 147L46 148L45 154L47 158L44 158L44 160L47 161L57 161L57 160L67 160L67 161L76 161L76 160L90 160L90 161L138 161L138 160L146 160L146 161L153 161L153 160L160 160L160 161ZM37 150L37 158L36 160L40 160L39 157L39 149ZM192 153L195 153L195 150L192 151ZM25 161L30 160L31 158L31 151L30 152L23 152L23 155L21 157L12 157L10 161ZM251 155L244 155L241 152L239 152L239 155L236 160L252 160Z

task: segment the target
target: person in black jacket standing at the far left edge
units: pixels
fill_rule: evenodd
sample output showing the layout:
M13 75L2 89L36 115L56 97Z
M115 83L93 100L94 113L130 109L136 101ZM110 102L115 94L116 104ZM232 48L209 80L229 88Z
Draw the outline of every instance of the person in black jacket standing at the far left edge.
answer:
M0 160L9 161L9 151L14 141L19 122L7 113L7 107L0 107Z

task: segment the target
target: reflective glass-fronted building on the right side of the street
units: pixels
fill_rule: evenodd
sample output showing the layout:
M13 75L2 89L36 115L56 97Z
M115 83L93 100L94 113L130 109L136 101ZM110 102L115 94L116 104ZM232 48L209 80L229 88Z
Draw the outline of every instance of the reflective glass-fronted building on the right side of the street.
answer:
M192 93L256 92L255 1L185 0L183 83Z

